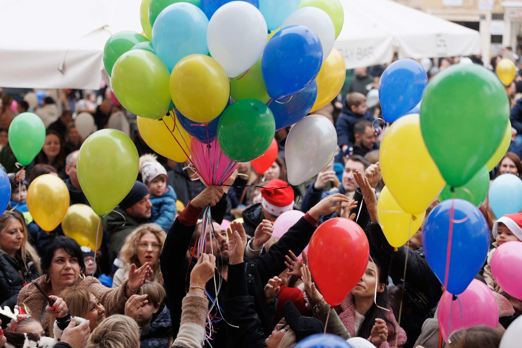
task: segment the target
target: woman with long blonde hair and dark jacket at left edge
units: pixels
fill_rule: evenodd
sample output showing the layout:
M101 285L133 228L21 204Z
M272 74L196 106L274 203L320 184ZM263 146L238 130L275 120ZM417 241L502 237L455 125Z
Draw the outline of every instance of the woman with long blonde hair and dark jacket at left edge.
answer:
M40 277L40 258L27 241L22 214L5 211L0 216L0 304L14 308L18 293L31 280ZM4 327L8 318L0 318Z

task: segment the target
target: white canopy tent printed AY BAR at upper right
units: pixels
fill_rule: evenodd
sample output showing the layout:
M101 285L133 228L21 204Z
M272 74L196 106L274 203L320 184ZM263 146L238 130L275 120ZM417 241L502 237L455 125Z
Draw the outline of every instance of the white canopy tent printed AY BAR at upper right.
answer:
M345 23L334 47L346 68L399 58L467 56L480 53L480 34L391 0L340 0Z

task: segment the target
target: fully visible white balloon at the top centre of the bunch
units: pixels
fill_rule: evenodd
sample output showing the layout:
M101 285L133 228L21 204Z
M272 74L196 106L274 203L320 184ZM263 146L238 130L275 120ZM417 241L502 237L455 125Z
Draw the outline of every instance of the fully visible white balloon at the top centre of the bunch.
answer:
M236 77L254 65L263 54L267 39L263 15L244 1L224 4L208 23L208 51L228 77Z

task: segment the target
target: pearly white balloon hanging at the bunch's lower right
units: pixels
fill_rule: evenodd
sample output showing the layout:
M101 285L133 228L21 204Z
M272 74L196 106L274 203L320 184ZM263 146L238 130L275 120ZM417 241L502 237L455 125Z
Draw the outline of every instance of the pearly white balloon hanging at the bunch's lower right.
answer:
M296 123L284 145L288 182L300 185L321 172L334 158L337 133L322 115L310 115Z

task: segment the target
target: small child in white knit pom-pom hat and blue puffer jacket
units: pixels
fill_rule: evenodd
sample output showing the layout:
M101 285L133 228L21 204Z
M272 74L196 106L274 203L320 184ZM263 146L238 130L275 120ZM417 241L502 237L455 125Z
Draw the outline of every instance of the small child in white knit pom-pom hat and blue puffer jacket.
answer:
M176 193L167 185L167 171L153 154L144 154L139 158L141 179L150 191L152 203L149 222L156 223L169 232L176 215Z

